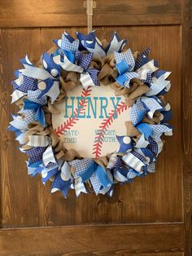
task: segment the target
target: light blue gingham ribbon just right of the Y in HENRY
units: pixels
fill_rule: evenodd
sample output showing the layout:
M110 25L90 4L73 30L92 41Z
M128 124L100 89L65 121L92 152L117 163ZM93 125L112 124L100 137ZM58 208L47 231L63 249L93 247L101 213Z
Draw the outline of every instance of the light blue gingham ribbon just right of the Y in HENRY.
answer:
M137 123L142 121L142 118L146 114L146 108L143 106L142 101L137 99L136 104L133 104L130 113L130 119L133 123L133 126L136 126Z

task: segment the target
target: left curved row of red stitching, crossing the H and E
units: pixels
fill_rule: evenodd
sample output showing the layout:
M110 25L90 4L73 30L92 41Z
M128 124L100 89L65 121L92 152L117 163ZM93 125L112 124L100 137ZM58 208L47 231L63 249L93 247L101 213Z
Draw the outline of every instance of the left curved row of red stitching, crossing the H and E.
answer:
M72 128L72 126L74 126L76 124L76 121L79 121L79 118L77 118L77 115L85 112L85 108L87 107L86 98L90 95L90 92L91 92L90 88L91 88L91 86L88 86L86 89L83 88L83 90L81 92L81 97L84 97L84 99L80 100L80 106L82 108L80 108L80 109L76 108L73 113L74 117L69 117L67 121L64 121L61 126L58 126L58 128L55 129L56 135L58 135L58 136L63 135L64 130L70 130Z

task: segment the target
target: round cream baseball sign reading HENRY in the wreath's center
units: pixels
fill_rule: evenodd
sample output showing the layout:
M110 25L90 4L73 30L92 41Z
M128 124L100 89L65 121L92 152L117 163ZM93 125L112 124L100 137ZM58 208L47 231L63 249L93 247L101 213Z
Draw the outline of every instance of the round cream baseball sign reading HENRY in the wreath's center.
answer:
M81 157L97 158L116 152L116 135L126 135L124 121L130 121L130 108L123 96L116 96L110 86L76 86L57 106L60 114L52 116L53 127L67 149Z

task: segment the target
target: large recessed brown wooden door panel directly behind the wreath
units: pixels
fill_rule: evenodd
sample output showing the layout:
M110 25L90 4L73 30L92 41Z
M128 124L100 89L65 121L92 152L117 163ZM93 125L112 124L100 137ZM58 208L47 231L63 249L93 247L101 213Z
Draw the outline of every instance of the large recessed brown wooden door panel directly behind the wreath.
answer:
M78 28L69 29L69 32ZM25 157L18 152L11 132L6 131L10 112L9 94L13 71L20 68L19 59L28 52L37 61L42 51L52 46L52 38L60 38L63 29L2 30L1 108L2 108L2 227L75 225L82 223L152 223L181 222L182 159L181 147L181 28L180 26L138 26L96 28L100 38L110 38L116 29L129 38L133 51L151 46L151 57L161 68L172 71L172 104L174 136L166 138L164 152L159 157L157 172L134 183L117 186L114 197L81 195L78 200L70 193L66 200L59 193L50 195L38 178L28 177ZM85 32L85 28L81 29ZM174 42L171 44L170 42ZM10 118L11 119L11 118ZM174 159L174 161L171 161ZM16 167L15 167L16 166ZM177 191L176 191L177 188ZM91 205L91 206L90 206Z

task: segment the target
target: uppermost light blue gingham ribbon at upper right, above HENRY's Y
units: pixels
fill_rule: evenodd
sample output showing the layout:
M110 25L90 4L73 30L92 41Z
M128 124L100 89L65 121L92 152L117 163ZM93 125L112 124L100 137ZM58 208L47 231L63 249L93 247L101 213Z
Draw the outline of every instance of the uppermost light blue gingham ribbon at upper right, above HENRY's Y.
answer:
M127 64L129 64L129 71L133 71L133 68L135 66L135 60L132 54L132 51L128 49L128 51L125 51L123 53L114 52L114 57L116 60L116 64L119 64L122 60L125 60Z

